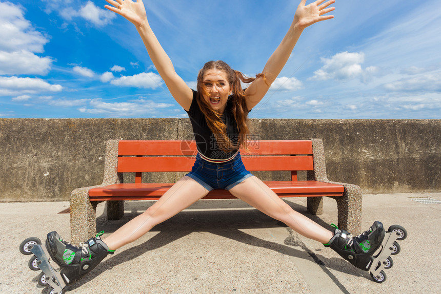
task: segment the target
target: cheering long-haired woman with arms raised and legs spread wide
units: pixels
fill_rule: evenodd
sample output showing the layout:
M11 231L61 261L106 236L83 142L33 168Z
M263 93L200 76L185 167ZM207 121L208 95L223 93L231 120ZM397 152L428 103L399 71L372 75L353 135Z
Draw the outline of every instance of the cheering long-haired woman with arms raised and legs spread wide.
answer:
M327 2L317 0L309 5L306 5L306 0L302 0L282 43L271 55L262 73L255 78L245 78L242 73L232 70L223 61L209 61L199 71L197 91L190 89L174 71L170 58L149 26L142 0L106 1L110 4L105 6L107 9L124 16L135 25L171 95L188 113L193 131L197 134L198 154L189 174L177 181L145 213L129 221L104 240L97 236L79 248L63 241L56 232L50 233L48 246L54 255L54 260L62 268L66 266L61 255L66 253L66 250L70 250L71 259L75 260L70 261L71 264L83 264L84 260L89 262L88 267L83 268L80 274L90 271L108 253L143 236L153 226L181 212L203 198L213 188L229 190L237 198L284 222L297 233L322 242L325 246L331 246L346 259L348 252L359 252L360 243L363 243L363 248L366 249L366 241L371 242L372 251L375 251L378 247L376 243L379 239L383 239L385 234L381 223L375 222L368 232L354 238L337 228L335 232L330 232L295 212L268 186L248 172L238 152L239 146L245 144L248 133L246 123L248 113L267 93L272 82L285 66L304 29L314 23L333 18L332 15L327 14L334 10L334 7L329 6L335 0ZM243 90L240 81L250 83L249 87ZM216 173L212 173L214 169L224 170L226 176L224 175L220 180ZM373 240L374 238L377 239ZM375 245L374 241L376 241ZM63 250L59 250L60 248ZM356 266L362 265L356 264ZM74 277L73 273L71 275Z

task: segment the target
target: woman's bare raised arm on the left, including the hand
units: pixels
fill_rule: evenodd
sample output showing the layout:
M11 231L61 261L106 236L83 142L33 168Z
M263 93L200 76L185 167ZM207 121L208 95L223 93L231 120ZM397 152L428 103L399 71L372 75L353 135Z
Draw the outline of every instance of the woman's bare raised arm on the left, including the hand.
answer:
M158 39L150 28L147 20L146 9L142 0L106 0L111 6L105 7L119 15L124 16L135 25L139 35L144 41L147 52L159 75L165 81L173 98L185 110L190 109L193 93L185 81L176 74L173 64L167 53L159 44Z

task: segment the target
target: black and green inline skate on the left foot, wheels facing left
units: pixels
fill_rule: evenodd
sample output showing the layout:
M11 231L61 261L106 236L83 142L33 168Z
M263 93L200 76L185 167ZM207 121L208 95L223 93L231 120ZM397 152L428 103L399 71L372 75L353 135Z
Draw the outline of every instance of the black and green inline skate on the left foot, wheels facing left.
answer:
M74 246L64 241L56 232L51 232L47 236L46 246L42 246L38 238L31 237L22 242L20 252L34 254L28 265L32 270L42 270L37 278L38 284L50 285L50 294L61 294L66 285L87 274L109 253L113 254L101 240L103 233ZM51 259L60 267L59 270L52 267Z

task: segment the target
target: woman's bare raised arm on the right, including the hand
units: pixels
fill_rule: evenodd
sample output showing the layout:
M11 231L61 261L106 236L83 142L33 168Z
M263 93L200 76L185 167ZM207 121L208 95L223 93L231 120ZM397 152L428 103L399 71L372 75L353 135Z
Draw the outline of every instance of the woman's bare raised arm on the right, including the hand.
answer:
M335 3L335 0L325 1L326 0L317 0L309 5L305 5L306 0L300 2L295 11L291 27L280 45L268 59L267 64L262 71L265 80L263 77L258 77L245 90L248 109L252 109L265 96L271 84L288 61L288 58L303 30L312 24L321 22L322 20L334 18L333 15L324 14L335 9L334 7L328 8L328 6Z

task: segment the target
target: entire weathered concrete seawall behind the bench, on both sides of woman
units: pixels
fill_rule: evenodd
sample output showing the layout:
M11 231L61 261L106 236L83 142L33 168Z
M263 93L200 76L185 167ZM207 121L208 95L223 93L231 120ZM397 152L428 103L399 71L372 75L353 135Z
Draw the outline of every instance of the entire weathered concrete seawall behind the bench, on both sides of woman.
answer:
M441 120L251 119L250 129L262 140L322 138L328 178L364 193L441 192ZM69 200L102 182L106 140L191 132L189 119L0 119L0 201Z

